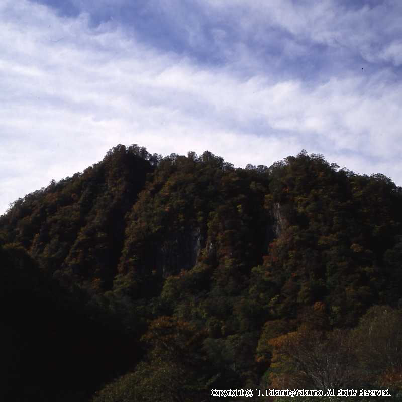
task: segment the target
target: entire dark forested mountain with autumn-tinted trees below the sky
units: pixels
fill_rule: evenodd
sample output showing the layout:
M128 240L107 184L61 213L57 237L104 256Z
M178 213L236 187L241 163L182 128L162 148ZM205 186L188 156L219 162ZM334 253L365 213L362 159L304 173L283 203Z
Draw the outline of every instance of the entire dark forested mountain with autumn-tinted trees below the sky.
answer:
M0 246L2 400L402 400L402 189L384 175L118 145L11 204Z

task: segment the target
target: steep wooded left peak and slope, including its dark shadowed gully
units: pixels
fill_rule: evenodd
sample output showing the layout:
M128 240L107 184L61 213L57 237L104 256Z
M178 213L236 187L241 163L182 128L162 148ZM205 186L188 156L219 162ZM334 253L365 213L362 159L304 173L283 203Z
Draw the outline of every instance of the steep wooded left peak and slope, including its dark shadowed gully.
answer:
M102 162L14 203L0 219L7 242L22 244L65 285L112 285L124 241L124 216L157 155L119 145Z

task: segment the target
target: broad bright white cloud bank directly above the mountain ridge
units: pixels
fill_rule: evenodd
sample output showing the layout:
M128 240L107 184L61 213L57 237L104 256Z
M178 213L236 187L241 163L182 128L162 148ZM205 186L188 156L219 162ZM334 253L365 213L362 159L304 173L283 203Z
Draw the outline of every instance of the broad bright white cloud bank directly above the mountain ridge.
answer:
M290 29L299 13L280 4L274 18ZM402 88L386 70L307 85L281 81L267 66L266 74L258 69L246 80L232 65L207 69L160 53L119 25L91 28L86 14L63 18L26 0L6 0L0 16L0 212L52 178L82 171L118 143L164 155L208 149L237 166L269 165L305 148L402 182L395 163L402 153ZM292 29L302 32L318 19L309 18ZM215 35L223 40L225 32ZM392 49L381 57L396 63Z

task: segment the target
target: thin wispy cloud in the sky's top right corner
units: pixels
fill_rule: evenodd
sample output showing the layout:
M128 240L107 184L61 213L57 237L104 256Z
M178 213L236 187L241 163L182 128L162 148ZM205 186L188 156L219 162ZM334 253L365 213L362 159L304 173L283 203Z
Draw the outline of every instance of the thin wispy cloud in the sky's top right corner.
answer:
M236 20L243 38L252 36L269 43L270 30L277 28L292 35L291 40L281 40L300 54L319 44L347 49L367 62L401 63L402 2L398 0L383 0L374 7L354 7L354 2L342 5L336 0L205 1L217 13ZM393 41L395 37L398 41Z

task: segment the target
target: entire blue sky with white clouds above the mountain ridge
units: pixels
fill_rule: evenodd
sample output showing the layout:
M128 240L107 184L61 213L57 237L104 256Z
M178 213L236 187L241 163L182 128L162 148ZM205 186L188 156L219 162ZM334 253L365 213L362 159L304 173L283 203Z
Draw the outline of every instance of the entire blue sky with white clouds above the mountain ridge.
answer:
M0 214L117 144L402 185L400 0L1 0Z

